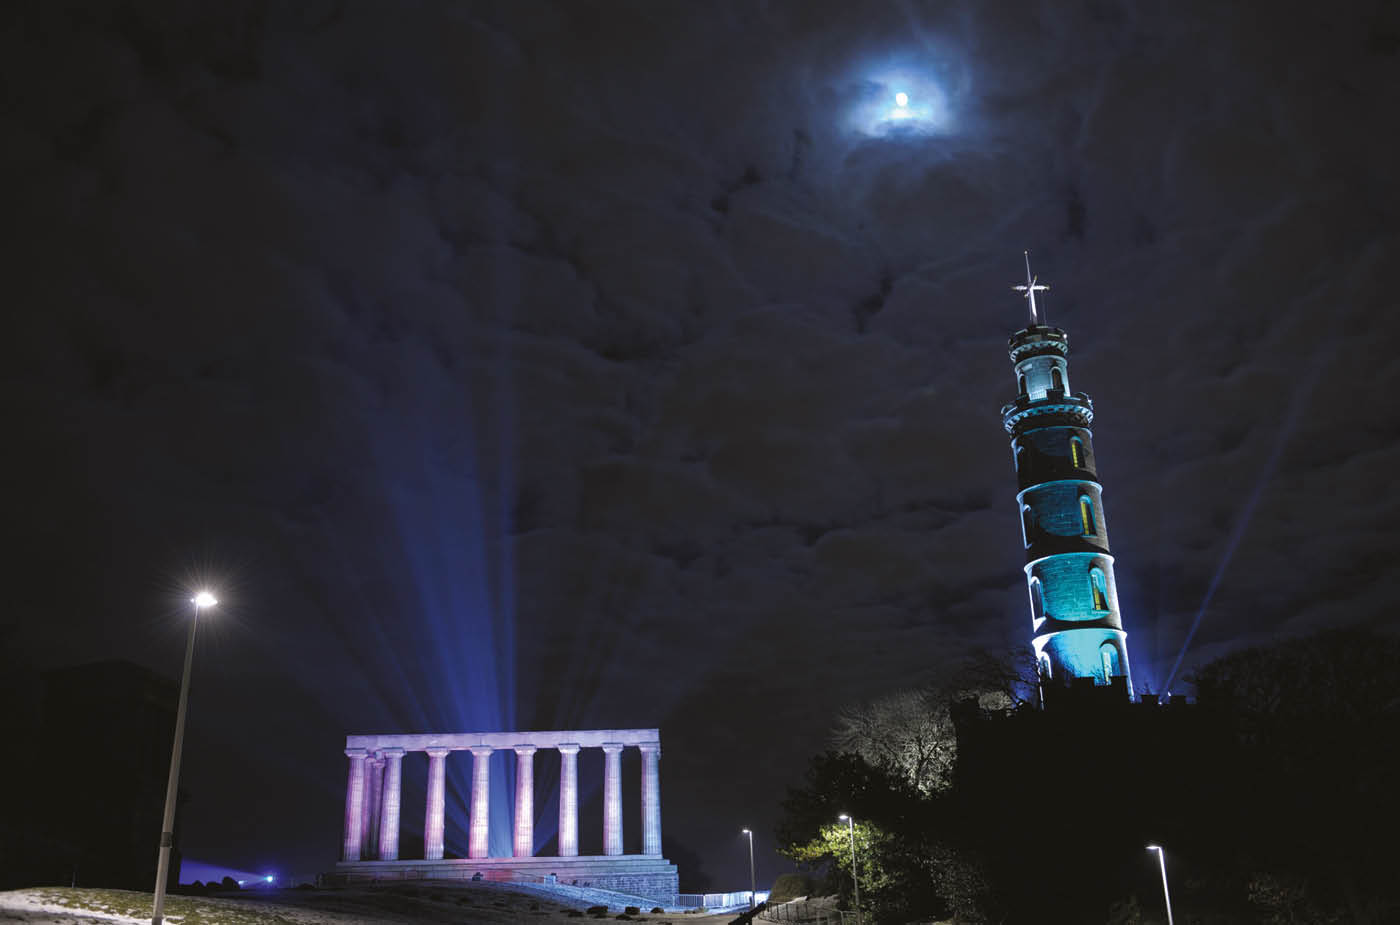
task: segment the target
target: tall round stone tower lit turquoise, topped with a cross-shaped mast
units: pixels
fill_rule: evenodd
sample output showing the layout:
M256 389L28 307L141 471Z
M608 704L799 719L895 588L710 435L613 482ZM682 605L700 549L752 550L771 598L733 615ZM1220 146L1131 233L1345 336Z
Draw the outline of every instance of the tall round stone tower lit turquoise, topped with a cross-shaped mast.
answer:
M1016 463L1021 525L1026 544L1030 623L1042 677L1065 684L1123 677L1128 695L1127 633L1113 581L1103 516L1103 486L1093 459L1093 402L1070 392L1070 337L1044 323L1030 276L1015 287L1030 304L1030 323L1007 348L1019 395L1001 409Z

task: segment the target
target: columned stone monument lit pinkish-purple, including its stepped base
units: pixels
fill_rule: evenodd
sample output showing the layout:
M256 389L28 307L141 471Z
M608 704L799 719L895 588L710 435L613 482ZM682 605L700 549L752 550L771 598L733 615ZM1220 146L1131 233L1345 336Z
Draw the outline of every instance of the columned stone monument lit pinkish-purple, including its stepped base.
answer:
M554 749L559 774L559 854L535 856L535 753ZM603 854L578 855L578 753L603 751ZM641 854L623 854L622 753L641 753ZM423 858L399 858L403 756L428 757ZM447 763L469 751L472 798L468 856L444 858ZM515 754L512 856L491 858L490 805L494 751ZM463 732L346 736L344 840L333 875L340 880L549 879L673 903L676 868L661 856L661 733L657 729L570 732Z

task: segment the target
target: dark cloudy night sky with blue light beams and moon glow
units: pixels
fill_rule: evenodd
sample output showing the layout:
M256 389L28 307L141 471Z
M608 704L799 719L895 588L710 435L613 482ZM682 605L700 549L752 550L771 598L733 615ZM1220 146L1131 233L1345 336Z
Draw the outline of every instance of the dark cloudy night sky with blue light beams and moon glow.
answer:
M0 20L7 659L178 676L213 586L190 858L329 869L347 733L658 726L682 887L787 869L839 707L1029 641L1028 248L1138 687L1394 627L1396 4Z

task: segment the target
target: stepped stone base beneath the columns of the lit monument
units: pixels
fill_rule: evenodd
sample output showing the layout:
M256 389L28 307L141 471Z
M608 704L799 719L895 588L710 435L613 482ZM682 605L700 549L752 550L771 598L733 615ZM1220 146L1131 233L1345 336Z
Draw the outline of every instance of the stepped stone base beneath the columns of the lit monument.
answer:
M444 858L442 861L340 861L326 875L330 883L400 880L514 880L581 886L645 897L675 905L680 890L676 865L648 855L580 858Z

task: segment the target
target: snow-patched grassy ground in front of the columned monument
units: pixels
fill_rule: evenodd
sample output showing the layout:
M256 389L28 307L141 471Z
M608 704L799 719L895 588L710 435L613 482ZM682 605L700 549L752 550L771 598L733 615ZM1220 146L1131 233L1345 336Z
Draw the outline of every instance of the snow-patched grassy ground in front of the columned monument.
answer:
M276 890L228 897L171 896L171 925L370 925L374 922L486 922L577 925L578 903L561 904L505 884L452 883L346 890ZM648 908L643 905L641 908ZM619 910L610 910L612 919ZM571 914L573 912L573 914ZM127 890L32 887L0 893L0 924L94 925L148 922L151 894ZM657 925L715 925L732 914L664 912L631 917Z

